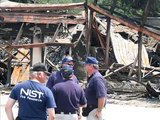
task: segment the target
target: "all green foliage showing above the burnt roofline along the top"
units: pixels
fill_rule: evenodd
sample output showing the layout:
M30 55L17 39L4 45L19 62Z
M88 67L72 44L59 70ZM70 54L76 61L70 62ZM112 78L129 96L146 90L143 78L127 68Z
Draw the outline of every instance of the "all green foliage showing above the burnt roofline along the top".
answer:
M40 4L61 4L61 3L93 3L94 0L10 0L22 3L40 3ZM113 1L116 2L116 11L129 17L142 16L148 0L97 0L99 4L106 5L110 9ZM149 15L154 16L160 13L160 0L152 0Z

